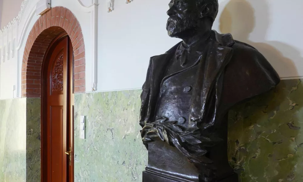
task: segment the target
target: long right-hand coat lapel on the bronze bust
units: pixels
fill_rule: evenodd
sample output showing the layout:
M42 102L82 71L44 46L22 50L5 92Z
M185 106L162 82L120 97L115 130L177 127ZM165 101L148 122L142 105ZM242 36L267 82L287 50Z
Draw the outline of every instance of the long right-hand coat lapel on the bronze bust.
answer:
M234 40L230 34L222 35L216 31L212 32L207 54L202 58L204 61L199 63L192 95L189 127L197 126L197 122L208 123L209 125L214 122L217 105L220 101L220 95L217 94L220 90L217 89L221 89L221 86L220 83L218 85L218 81L222 80L225 66L233 55L232 45L234 45ZM216 92L215 108L209 107L212 92ZM209 118L208 113L213 113L214 117L205 121L206 116ZM203 127L207 127L206 125Z

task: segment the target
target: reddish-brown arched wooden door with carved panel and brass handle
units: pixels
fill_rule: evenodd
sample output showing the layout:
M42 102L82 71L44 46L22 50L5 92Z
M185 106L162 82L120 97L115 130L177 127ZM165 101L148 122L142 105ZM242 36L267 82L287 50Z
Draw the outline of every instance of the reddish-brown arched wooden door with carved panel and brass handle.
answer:
M72 182L73 107L70 103L73 96L73 55L69 37L57 40L47 55L47 72L42 85L42 105L45 109L42 127L45 127L46 135L42 136L46 139L42 141L42 181Z

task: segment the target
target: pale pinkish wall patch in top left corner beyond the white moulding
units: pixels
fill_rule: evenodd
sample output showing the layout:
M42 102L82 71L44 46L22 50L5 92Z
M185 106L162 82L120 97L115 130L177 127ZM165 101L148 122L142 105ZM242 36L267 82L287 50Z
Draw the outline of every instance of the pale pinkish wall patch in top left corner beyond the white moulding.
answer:
M0 0L0 29L18 15L22 1L23 0Z

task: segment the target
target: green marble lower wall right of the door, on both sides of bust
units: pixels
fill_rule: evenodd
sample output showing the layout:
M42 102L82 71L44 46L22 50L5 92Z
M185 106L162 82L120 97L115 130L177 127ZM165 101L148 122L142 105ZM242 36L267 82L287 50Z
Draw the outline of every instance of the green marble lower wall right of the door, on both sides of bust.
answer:
M141 181L140 90L75 96L75 181ZM228 156L242 182L303 181L303 83L282 80L229 112ZM86 116L86 139L79 116Z

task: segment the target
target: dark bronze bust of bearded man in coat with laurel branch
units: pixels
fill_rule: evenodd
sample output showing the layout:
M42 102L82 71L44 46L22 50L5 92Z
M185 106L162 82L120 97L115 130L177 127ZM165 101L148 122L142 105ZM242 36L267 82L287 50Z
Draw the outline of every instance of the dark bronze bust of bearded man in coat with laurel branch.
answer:
M150 58L141 94L143 182L237 182L227 161L227 112L280 78L254 47L212 30L217 0L171 0L170 37L183 41Z

